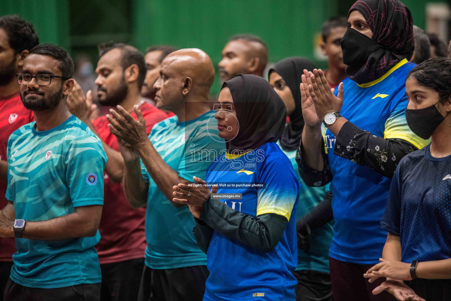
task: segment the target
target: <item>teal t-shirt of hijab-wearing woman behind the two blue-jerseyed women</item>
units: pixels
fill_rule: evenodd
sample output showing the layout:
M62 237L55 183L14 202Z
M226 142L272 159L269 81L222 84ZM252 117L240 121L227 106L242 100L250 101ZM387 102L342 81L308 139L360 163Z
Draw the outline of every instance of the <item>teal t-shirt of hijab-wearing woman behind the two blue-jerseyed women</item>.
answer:
M296 176L298 176L299 182L301 183L297 212L297 219L299 219L324 199L324 194L326 194L326 191L329 191L329 184L322 187L308 187L305 185L299 175L298 163L296 163L296 151L287 152L281 147L279 141L277 141L277 144L290 159ZM308 252L298 248L298 265L296 271L313 270L329 273L329 248L334 233L333 224L333 221L328 222L326 225L312 231Z

